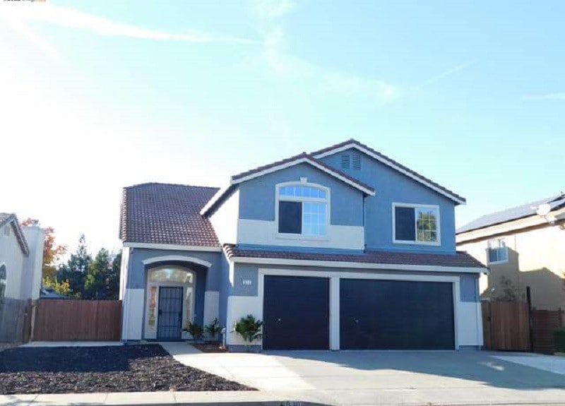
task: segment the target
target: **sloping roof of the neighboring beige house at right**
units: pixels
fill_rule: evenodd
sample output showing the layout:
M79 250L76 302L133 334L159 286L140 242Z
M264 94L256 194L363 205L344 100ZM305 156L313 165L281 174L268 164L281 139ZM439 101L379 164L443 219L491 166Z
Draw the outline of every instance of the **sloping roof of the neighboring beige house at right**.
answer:
M552 211L564 208L565 193L484 215L457 229L457 234L535 215L537 207L542 204L549 204Z

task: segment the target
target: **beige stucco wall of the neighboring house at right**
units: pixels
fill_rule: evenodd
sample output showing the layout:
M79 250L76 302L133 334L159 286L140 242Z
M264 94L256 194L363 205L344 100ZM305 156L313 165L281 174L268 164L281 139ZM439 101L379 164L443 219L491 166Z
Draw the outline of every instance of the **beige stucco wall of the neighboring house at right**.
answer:
M488 241L504 238L508 246L508 263L488 264ZM485 265L489 275L480 280L483 299L504 296L503 279L509 281L518 299L525 299L525 287L530 287L532 305L537 309L565 309L565 229L545 225L535 229L507 232L496 237L458 244ZM492 289L494 288L494 292Z

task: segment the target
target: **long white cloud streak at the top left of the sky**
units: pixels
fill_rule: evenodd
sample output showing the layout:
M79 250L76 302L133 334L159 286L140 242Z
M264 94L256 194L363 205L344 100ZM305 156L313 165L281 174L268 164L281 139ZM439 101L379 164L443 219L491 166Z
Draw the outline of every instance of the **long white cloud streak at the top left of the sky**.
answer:
M2 4L3 18L11 22L31 23L40 21L61 27L86 30L96 35L109 37L131 37L142 40L169 40L182 42L236 42L249 44L253 41L237 37L210 35L199 32L174 33L161 30L150 30L136 25L120 23L83 13L73 8L54 6L52 4Z

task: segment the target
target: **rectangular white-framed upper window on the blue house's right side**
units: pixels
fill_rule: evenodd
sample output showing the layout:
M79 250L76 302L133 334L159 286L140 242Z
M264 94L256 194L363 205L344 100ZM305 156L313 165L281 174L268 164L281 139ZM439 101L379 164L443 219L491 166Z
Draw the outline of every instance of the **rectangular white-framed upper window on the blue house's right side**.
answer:
M393 242L440 245L439 205L393 203Z

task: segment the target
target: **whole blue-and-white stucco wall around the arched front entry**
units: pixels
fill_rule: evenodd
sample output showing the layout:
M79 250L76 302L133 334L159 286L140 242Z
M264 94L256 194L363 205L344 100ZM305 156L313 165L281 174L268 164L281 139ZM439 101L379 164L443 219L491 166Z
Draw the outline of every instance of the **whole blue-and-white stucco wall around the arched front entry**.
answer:
M122 340L141 340L145 326L145 287L147 270L143 261L160 257L197 258L211 263L206 269L202 265L188 265L196 272L196 297L194 305L194 319L198 324L209 323L210 317L218 317L218 303L220 290L221 256L222 253L208 251L179 251L165 249L140 249L130 248L128 267L125 270L124 282L126 283L123 297L124 312L122 316ZM124 258L125 259L125 258ZM187 259L186 261L189 261ZM181 263L181 261L165 261L166 263ZM150 266L155 266L152 264ZM204 309L204 306L208 309ZM205 320L206 317L206 320Z

